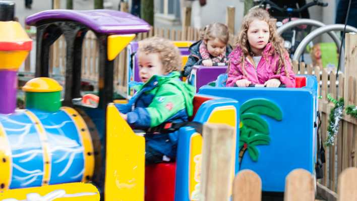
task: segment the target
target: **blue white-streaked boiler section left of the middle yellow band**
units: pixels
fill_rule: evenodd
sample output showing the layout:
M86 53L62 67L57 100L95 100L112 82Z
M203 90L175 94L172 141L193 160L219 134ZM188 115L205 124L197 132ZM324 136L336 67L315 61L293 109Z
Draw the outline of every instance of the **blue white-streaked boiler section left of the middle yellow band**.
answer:
M12 174L10 189L41 186L43 171L43 151L40 137L25 113L0 114L2 124L11 149Z

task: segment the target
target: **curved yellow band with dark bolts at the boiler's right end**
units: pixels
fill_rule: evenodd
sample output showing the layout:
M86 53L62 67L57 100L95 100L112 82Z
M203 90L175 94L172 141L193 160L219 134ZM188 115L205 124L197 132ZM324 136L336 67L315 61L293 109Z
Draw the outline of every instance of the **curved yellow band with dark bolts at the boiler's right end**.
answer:
M77 131L81 137L84 152L84 173L82 177L82 182L90 181L94 172L94 151L92 138L89 133L87 124L84 122L82 116L73 108L62 107L62 111L68 114L74 124L76 125Z

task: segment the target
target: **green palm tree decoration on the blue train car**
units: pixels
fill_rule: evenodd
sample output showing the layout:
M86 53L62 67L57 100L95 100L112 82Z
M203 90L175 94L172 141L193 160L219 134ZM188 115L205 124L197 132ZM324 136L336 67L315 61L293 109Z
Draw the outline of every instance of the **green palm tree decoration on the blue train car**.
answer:
M270 142L269 125L261 115L277 121L282 120L280 108L265 98L253 98L245 102L240 109L239 163L248 150L253 161L258 161L259 150L256 145L267 145Z

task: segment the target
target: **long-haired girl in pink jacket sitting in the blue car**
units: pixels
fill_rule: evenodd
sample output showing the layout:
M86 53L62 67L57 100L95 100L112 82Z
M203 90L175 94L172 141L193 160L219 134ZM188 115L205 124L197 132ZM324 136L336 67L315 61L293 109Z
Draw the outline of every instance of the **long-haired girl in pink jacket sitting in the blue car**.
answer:
M263 9L252 9L244 17L236 47L228 58L226 86L295 87L283 39L276 32L275 21Z

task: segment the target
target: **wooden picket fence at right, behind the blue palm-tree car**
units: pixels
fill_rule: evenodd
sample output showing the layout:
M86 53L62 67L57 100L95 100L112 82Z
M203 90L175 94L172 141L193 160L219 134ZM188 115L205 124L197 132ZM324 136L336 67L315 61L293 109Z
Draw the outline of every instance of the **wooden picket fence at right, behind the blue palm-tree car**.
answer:
M298 71L300 66L300 71ZM327 138L327 128L329 122L330 111L334 104L329 101L327 94L337 99L344 97L346 105L357 105L355 97L356 82L352 76L345 77L340 73L336 80L336 71L330 73L326 69L312 67L304 63L294 63L293 70L296 74L316 75L319 86L319 111L321 113L321 133L323 141ZM305 73L304 73L305 72ZM320 75L321 74L321 75ZM344 83L347 84L348 91L344 90ZM335 144L325 146L326 163L324 164L324 178L320 181L329 189L337 190L337 175L348 167L357 167L355 151L357 147L356 133L357 120L350 115L343 114L343 118L339 124L339 132L335 139Z

